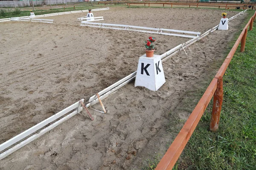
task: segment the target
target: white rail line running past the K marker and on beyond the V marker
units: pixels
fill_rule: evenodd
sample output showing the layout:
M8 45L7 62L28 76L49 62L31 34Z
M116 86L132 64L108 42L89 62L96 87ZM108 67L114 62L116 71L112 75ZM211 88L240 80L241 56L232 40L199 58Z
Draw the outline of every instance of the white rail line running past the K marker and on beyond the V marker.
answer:
M241 16L241 14L244 14L247 11L241 11L239 14L234 15L233 17L229 18L228 21L230 22L231 20L235 19L238 16ZM219 26L219 25L218 25ZM177 45L175 48L172 48L171 50L167 51L166 53L160 55L162 62L166 61L167 59L169 59L170 57L174 56L175 54L177 54L179 51L182 51L185 49L184 48L188 48L190 45L194 44L195 42L197 42L198 40L201 40L202 38L206 37L208 34L212 33L213 31L215 31L216 29L218 29L218 26L215 26L211 29L209 29L208 31L206 31L204 34L201 34L200 36L197 36L183 44ZM186 53L186 51L185 51ZM104 90L100 91L98 94L100 96L100 99L105 99L108 96L110 96L113 92L117 91L119 88L123 87L124 85L128 84L129 82L131 82L132 80L135 79L136 77L136 72L133 72L132 74L126 76L125 78L119 80L118 82L114 83L113 85L109 86L108 88L105 88ZM95 105L97 102L99 102L99 99L96 98L96 95L93 95L90 97L89 103L86 105L86 107L90 107L92 105Z

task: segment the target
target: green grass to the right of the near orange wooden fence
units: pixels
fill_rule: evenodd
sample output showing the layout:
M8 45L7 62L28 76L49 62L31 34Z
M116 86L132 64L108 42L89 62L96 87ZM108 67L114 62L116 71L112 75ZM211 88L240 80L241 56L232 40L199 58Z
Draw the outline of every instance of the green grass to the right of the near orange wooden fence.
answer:
M179 170L256 169L256 27L248 31L245 52L239 50L224 75L219 129L209 131L207 109L176 164Z

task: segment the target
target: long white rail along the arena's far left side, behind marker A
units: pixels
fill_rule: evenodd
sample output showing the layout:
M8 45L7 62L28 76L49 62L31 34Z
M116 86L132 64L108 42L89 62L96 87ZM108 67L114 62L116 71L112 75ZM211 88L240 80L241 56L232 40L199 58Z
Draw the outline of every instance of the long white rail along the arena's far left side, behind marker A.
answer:
M96 9L92 9L92 11L103 11L103 10L109 10L109 8L96 8ZM24 17L4 18L4 19L0 19L0 22L11 21L11 20L13 20L13 19L15 20L15 19L17 19L17 18L49 17L49 16L55 16L55 15L79 13L79 12L89 12L89 10L87 9L87 10L81 10L81 11L58 12L58 13L52 13L52 14L35 15L35 16L33 16L33 17L24 16Z

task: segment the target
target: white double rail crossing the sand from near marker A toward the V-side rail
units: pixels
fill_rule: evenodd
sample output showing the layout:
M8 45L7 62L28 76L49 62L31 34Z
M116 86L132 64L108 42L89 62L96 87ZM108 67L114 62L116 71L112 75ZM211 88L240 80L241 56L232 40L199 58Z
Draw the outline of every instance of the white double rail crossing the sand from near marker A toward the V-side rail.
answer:
M107 24L107 23L89 23L88 21L82 21L80 26L89 26L95 28L107 28L107 29L115 29L115 30L124 30L124 31L135 31L135 32L144 32L150 34L162 34L162 35L171 35L177 37L186 37L186 38L195 38L200 35L200 32L194 31L182 31L182 30L174 30L174 29L164 29L164 28L149 28L149 27L141 27L141 26L128 26L128 25L120 25L120 24ZM121 27L121 28L117 28ZM137 29L131 29L137 28ZM144 29L144 30L139 30ZM147 31L145 31L147 30ZM148 31L151 30L151 31ZM183 35L183 34L172 34L172 33L164 33L163 31L169 32L179 32L184 34L196 34L197 36L192 35Z

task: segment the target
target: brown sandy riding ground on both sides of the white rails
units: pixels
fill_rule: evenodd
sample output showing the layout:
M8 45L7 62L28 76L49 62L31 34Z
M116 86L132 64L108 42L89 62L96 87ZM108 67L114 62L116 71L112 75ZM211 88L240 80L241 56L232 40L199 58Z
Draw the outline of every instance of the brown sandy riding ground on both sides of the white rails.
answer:
M97 23L198 31L217 26L220 10L122 8L94 11ZM228 11L228 17L238 14ZM35 12L36 14L36 12ZM0 23L0 144L73 103L137 70L144 41L156 38L155 54L190 40L141 32L80 26L86 12L41 19L53 24ZM191 113L183 105L216 73L227 43L246 14L163 62L166 83L157 91L134 81L102 100L107 113L83 110L0 160L0 170L140 169L163 154ZM190 51L189 51L190 50ZM93 108L102 110L101 105ZM178 123L177 123L178 122Z

